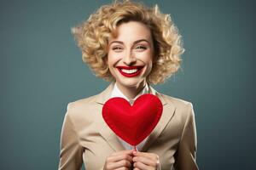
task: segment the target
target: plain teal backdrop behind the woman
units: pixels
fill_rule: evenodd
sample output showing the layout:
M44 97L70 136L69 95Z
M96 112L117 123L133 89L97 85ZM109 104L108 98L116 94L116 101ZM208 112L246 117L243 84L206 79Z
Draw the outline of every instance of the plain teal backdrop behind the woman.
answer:
M1 0L0 169L57 169L67 104L108 85L70 30L109 2ZM254 169L254 1L145 3L172 14L183 35L182 70L155 88L193 103L200 169Z

